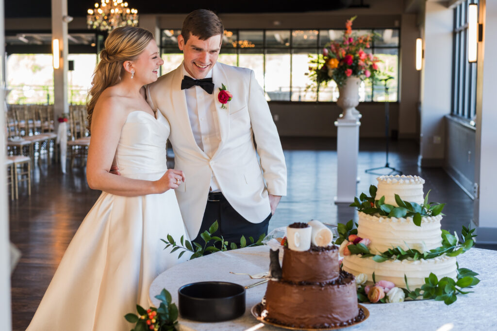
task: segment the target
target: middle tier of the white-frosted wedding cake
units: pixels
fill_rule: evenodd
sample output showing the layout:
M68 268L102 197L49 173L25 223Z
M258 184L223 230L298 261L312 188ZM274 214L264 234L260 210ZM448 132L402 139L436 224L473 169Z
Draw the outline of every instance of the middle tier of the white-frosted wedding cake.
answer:
M442 246L441 219L441 215L422 217L421 226L417 226L412 217L396 218L359 212L357 235L371 240L369 251L372 254L397 246L423 253Z

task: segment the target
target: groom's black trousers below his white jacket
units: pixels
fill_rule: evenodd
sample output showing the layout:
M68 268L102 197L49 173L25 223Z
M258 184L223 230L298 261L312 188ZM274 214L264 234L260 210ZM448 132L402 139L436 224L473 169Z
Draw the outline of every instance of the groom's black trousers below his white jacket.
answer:
M269 213L269 216L262 222L251 223L231 206L221 192L211 192L209 193L209 199L207 199L200 231L193 241L204 247L205 241L200 234L208 230L209 227L217 221L219 225L218 230L212 235L217 237L223 236L224 240L229 242L228 248L231 243L235 243L240 247L240 238L242 238L242 235L247 240L247 245L249 245L249 237L252 237L254 242L256 242L261 234L267 234L267 227L269 226L271 216L271 213ZM216 247L217 246L218 245L216 244ZM219 243L218 248L221 248L220 246Z

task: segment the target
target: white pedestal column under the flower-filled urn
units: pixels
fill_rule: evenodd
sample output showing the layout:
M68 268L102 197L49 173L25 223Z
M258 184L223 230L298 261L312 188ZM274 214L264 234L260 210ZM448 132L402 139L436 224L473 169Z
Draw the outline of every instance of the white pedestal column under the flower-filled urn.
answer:
M335 203L352 203L356 196L360 125L357 119L339 118L335 122L338 130Z

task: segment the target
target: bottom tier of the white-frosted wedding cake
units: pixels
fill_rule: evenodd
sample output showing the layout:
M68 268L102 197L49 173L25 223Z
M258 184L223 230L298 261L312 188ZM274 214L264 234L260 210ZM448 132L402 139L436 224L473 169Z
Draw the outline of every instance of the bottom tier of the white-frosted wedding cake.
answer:
M375 262L371 258L361 258L359 255L349 255L343 259L343 270L354 275L365 273L368 282L375 280L389 280L397 287L406 288L404 275L407 276L408 285L411 290L420 288L424 284L424 278L433 272L438 279L442 277L457 278L457 265L455 257L440 256L428 260L388 260Z

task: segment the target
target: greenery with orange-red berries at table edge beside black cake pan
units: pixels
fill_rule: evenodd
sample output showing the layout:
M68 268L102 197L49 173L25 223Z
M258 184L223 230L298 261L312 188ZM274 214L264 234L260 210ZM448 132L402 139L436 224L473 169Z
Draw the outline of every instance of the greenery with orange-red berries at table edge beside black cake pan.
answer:
M171 294L163 289L161 294L156 295L161 301L159 308L150 307L145 310L140 305L136 305L138 315L129 313L124 316L126 321L134 323L132 331L175 331L177 330L178 308L172 303Z

